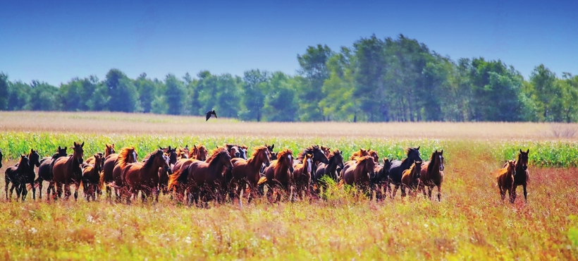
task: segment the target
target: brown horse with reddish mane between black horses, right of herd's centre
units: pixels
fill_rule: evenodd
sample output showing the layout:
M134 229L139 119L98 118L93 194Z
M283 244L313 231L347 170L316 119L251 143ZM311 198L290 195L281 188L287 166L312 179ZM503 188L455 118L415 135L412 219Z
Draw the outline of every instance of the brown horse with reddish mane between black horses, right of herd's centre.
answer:
M356 160L345 162L341 172L342 181L348 185L356 185L362 189L369 188L369 182L375 178L375 162L371 156L357 157Z

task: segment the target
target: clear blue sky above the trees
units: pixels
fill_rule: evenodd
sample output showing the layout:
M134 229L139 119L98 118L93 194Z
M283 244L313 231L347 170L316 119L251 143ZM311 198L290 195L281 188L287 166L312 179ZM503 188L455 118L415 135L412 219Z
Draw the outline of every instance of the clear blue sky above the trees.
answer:
M160 3L164 2L164 3ZM307 46L403 34L452 59L578 74L578 1L7 1L0 71L53 85L119 68L295 74Z

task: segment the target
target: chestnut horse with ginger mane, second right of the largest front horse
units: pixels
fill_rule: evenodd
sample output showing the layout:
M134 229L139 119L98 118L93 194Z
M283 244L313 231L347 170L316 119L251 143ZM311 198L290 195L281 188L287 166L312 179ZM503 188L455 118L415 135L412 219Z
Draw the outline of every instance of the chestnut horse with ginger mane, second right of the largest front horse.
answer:
M293 182L293 152L291 150L283 150L277 154L276 160L271 161L271 164L265 169L265 177L259 179L259 183L267 183L269 190L267 190L267 198L272 202L273 190L285 190L286 195L290 195L290 186ZM281 200L281 191L277 192L277 201Z

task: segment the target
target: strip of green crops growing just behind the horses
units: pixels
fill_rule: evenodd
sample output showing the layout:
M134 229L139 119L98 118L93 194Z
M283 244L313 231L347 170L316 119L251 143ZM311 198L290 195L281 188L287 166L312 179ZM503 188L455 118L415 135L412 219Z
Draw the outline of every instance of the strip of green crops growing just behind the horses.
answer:
M379 152L380 157L389 159L402 159L405 156L404 149L410 146L421 146L422 157L428 158L433 150L445 150L445 159L452 162L455 157L465 156L457 147L467 148L463 153L487 154L496 162L505 162L514 159L519 149L530 150L529 160L533 166L562 166L570 167L578 165L578 142L575 141L465 141L465 140L387 140L369 138L349 138L347 140L337 138L220 138L185 135L159 136L159 135L99 135L99 134L58 134L58 133L27 133L7 132L0 138L0 148L4 151L5 159L16 159L22 153L31 148L39 150L41 154L54 153L56 147L70 147L75 141L85 142L85 153L92 154L104 150L104 143L115 143L117 148L123 146L135 146L140 155L152 152L159 146L185 146L203 144L209 148L216 145L222 146L225 142L245 144L249 147L275 144L276 148L289 148L293 152L301 152L309 145L326 145L342 150L345 157L349 157L359 147L371 148ZM88 157L88 156L85 156Z

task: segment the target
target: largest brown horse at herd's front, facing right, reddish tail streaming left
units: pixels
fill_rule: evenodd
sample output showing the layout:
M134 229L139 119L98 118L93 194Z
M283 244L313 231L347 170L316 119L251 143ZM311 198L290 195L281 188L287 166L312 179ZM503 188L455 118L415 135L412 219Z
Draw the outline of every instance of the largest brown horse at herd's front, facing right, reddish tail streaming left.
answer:
M178 196L184 196L186 190L189 190L189 202L195 200L198 203L199 196L208 202L214 190L221 189L225 168L233 169L230 154L225 148L217 147L207 162L191 162L171 175L168 189L175 191Z

